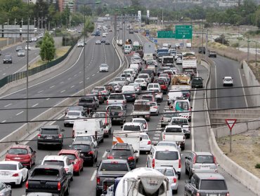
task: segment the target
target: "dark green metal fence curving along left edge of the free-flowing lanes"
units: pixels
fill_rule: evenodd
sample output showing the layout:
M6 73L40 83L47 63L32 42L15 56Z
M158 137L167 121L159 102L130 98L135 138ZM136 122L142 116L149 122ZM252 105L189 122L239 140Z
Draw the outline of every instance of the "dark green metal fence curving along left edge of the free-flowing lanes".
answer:
M42 64L41 66L34 67L33 69L29 69L28 76L32 76L36 73L44 71L44 70L51 68L52 66L55 66L56 64L59 64L60 62L62 62L67 57L67 55L70 54L70 51L74 48L74 45L76 45L76 43L73 43L72 46L70 47L70 49L62 57L59 57L58 59L55 59L52 62L47 62L46 64ZM27 71L20 71L18 73L13 73L0 80L0 88L15 80L20 80L20 79L26 78L26 77L27 77Z

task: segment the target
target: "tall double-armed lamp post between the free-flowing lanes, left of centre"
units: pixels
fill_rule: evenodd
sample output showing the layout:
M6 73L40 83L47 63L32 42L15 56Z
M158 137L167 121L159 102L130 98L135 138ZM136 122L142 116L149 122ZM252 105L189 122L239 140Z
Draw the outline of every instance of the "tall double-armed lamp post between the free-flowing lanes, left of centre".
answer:
M91 4L98 4L100 1L91 2L91 3L76 3L76 2L69 2L70 4L79 4L84 6L84 47L83 47L83 87L84 87L84 96L86 95L86 80L85 80L85 73L86 73L86 54L85 54L85 43L86 43L86 5Z

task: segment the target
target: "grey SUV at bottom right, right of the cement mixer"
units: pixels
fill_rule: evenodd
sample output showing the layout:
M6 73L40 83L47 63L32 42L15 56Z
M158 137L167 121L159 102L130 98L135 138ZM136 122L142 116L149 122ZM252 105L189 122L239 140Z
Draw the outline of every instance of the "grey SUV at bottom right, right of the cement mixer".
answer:
M199 173L194 174L190 181L185 181L184 195L223 195L228 196L226 181L221 174Z

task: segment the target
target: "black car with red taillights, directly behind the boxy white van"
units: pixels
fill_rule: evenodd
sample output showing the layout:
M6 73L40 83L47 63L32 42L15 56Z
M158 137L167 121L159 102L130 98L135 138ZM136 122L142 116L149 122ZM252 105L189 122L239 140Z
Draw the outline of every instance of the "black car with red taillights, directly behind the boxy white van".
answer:
M92 141L74 141L70 148L79 151L84 165L93 166L98 160L98 150Z

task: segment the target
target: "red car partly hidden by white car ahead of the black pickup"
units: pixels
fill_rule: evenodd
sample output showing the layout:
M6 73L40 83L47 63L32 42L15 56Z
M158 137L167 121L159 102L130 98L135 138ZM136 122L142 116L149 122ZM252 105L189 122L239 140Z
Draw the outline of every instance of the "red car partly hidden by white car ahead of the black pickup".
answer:
M67 156L73 164L73 172L78 176L80 175L80 172L83 171L84 160L80 157L79 151L63 149L58 153L58 155Z

